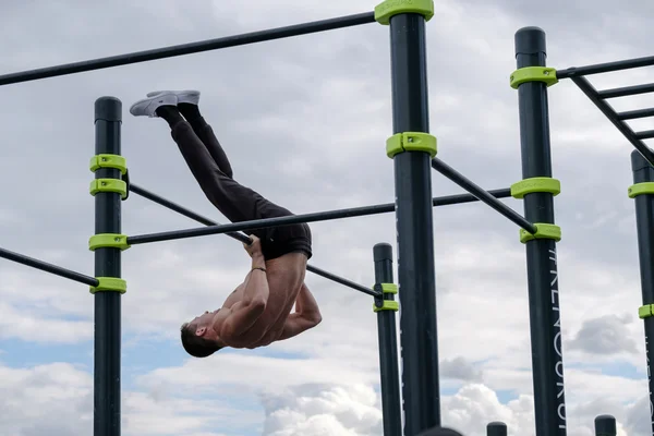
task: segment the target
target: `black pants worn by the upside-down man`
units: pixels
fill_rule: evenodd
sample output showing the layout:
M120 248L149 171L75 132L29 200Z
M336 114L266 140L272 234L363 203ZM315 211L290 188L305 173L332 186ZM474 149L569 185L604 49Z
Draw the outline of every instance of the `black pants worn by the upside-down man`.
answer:
M199 187L230 221L293 215L233 179L229 159L210 125L203 123L194 131L187 122L180 122L172 128L171 135ZM293 252L312 256L312 235L306 223L256 229L249 233L261 239L266 259Z

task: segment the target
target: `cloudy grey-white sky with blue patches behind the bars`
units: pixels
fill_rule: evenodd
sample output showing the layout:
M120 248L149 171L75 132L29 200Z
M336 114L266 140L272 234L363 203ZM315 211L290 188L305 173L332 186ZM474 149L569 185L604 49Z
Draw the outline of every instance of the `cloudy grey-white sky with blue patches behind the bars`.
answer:
M513 34L538 25L559 69L651 55L654 5L438 0L428 29L432 131L439 157L486 189L521 179ZM0 72L367 12L317 0L2 2ZM123 106L132 180L204 215L206 201L161 120L128 108L160 88L197 88L235 177L295 213L392 202L388 28L358 28L0 88L2 246L92 274L88 159L93 107ZM652 82L647 70L592 77ZM650 97L616 101L651 107ZM649 435L630 146L570 82L550 88L569 435L611 413ZM652 129L647 121L634 123ZM461 190L438 174L434 195ZM518 201L507 204L522 211ZM128 234L196 226L132 196ZM393 216L312 226L312 263L373 283L372 247L395 246ZM489 421L533 435L524 247L483 204L434 210L444 423L480 436ZM215 308L246 274L227 237L124 254L122 427L128 436L373 436L382 432L371 299L308 275L323 324L256 351L192 360L180 324ZM82 284L0 264L0 434L86 436L93 428L93 296Z

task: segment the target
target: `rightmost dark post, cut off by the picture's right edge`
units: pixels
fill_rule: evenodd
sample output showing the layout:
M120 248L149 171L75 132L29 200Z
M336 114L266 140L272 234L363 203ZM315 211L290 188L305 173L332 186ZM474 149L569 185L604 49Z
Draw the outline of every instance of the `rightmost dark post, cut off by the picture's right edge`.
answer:
M631 153L631 169L633 171L633 183L654 182L654 168L633 150ZM639 311L645 327L645 355L647 361L647 379L650 385L650 423L654 433L654 382L652 380L652 363L654 363L654 348L650 339L654 338L654 190L644 190L650 193L634 195L633 186L630 196L635 202L635 225L638 232L638 250L640 258L641 292L643 295L643 307Z

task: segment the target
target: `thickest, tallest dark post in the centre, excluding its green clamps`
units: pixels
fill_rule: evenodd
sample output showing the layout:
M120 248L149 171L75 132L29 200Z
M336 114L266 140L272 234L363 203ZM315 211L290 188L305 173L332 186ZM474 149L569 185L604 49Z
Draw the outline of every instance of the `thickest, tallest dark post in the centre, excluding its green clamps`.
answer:
M393 133L429 131L425 16L390 20ZM393 157L404 434L440 425L432 155Z

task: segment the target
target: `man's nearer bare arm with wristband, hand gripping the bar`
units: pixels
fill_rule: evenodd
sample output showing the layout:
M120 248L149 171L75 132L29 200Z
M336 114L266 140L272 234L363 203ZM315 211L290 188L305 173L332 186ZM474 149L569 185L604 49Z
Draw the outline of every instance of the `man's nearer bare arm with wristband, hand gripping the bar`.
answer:
M253 242L245 250L252 257L252 269L243 283L243 298L231 307L231 313L220 329L220 335L225 338L238 337L247 331L262 316L268 303L270 290L261 241L255 235L251 238Z

